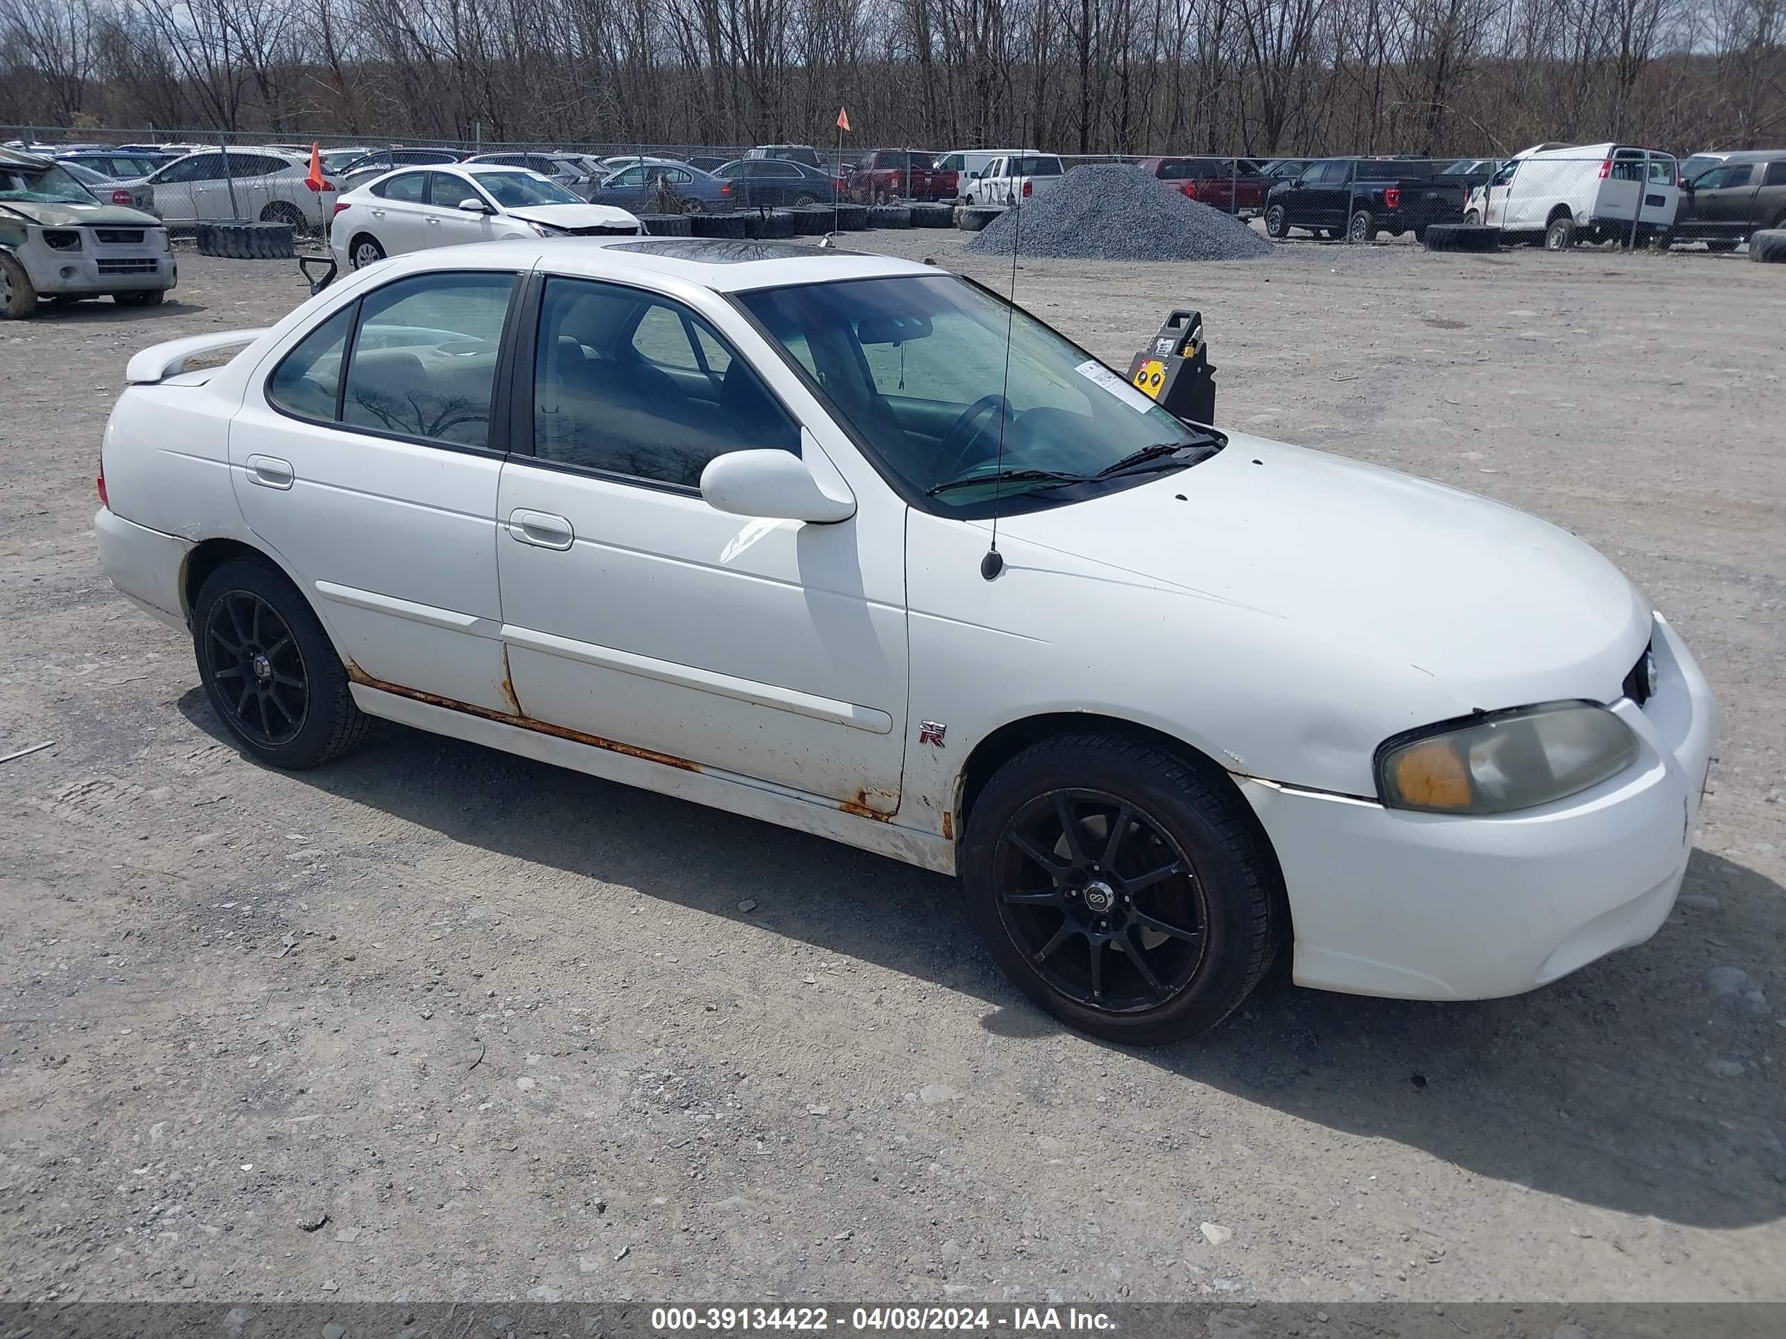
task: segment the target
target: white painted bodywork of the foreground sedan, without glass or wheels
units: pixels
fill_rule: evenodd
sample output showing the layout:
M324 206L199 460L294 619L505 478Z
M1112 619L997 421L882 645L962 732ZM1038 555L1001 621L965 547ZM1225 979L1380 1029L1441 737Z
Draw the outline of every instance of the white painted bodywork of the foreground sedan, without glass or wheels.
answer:
M750 502L718 473L707 500L266 403L270 371L332 312L468 266L623 282L711 321L802 425L827 523L723 511ZM936 270L520 241L348 273L225 366L179 371L225 336L132 359L105 428L102 564L184 627L193 548L248 545L311 598L373 716L939 871L993 732L1052 714L1148 727L1250 803L1306 986L1511 994L1654 934L1716 705L1606 559L1500 503L1236 432L1195 470L1006 516L1006 570L984 580L989 523L907 505L727 300L898 275ZM1623 682L1647 645L1657 682L1638 707ZM1613 703L1636 761L1493 818L1377 798L1386 739L1552 700ZM920 743L931 721L947 744Z

